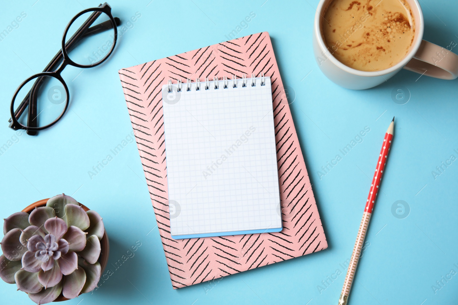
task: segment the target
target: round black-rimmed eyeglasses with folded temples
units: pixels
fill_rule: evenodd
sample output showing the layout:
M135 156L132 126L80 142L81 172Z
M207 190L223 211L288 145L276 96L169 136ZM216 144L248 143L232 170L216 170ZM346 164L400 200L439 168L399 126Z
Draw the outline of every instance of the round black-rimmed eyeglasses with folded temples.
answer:
M10 128L36 135L38 130L57 123L70 100L62 71L67 65L92 68L102 64L114 50L119 25L120 19L113 18L106 2L76 14L65 27L62 49L42 73L30 76L16 89L11 100Z

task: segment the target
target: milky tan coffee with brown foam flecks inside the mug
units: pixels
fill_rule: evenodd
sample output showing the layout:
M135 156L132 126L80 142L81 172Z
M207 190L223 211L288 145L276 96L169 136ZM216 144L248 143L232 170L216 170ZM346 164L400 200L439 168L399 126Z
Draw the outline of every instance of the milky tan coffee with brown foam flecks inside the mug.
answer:
M414 41L414 18L404 0L333 0L322 17L328 50L350 68L380 71L398 64Z

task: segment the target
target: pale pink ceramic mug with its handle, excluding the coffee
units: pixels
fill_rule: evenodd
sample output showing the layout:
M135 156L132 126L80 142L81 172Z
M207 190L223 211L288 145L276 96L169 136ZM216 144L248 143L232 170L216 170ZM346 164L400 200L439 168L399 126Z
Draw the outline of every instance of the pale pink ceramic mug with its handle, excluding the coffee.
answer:
M409 53L400 62L388 69L375 72L355 70L346 66L329 52L323 37L322 16L331 1L321 0L316 9L313 51L324 75L339 86L356 90L372 88L387 81L401 69L444 80L454 80L458 77L458 55L447 49L448 47L442 48L423 40L425 23L418 0L406 0L415 20L415 36Z

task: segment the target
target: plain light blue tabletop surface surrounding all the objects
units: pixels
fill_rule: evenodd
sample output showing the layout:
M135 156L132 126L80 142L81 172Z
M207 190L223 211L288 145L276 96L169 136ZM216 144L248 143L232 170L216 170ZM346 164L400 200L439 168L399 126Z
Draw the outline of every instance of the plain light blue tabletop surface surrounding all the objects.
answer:
M8 128L11 96L28 76L43 70L60 48L71 17L98 5L87 0L3 0L0 31L22 11L27 17L0 41L2 95L0 146ZM193 2L194 1L194 2ZM58 193L74 196L103 217L110 240L108 268L114 273L93 294L68 304L337 304L346 261L353 248L383 135L396 116L395 140L367 235L349 304L457 304L458 275L440 290L431 288L453 268L458 272L458 161L439 177L431 171L458 154L457 80L436 80L403 70L385 84L350 91L322 75L311 39L318 0L304 1L116 1L113 15L142 16L118 41L104 64L63 73L71 93L65 117L37 137L22 135L0 155L1 217ZM458 3L421 0L425 39L458 42ZM223 278L173 290L136 144L131 143L92 179L88 171L131 133L117 70L227 40L245 16L256 17L237 37L268 31L313 184L329 248ZM453 50L457 51L458 47ZM80 74L81 73L81 74ZM307 75L307 76L306 76ZM306 77L305 77L306 76ZM393 102L405 86L410 100ZM294 102L293 98L295 96ZM337 166L319 178L365 126L371 131ZM392 204L410 206L397 219ZM119 269L128 248L142 246ZM345 266L346 267L346 266ZM343 273L320 292L317 286ZM335 278L335 276L334 276ZM444 281L445 283L445 281ZM0 282L2 304L33 304L14 285ZM423 302L423 303L422 303Z

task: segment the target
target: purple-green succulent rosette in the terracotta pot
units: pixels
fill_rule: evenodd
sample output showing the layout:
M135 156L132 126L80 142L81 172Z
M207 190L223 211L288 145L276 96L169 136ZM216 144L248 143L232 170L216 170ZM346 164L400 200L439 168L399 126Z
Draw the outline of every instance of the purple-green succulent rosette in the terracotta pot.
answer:
M104 223L65 194L49 198L30 214L5 219L0 278L16 284L37 304L60 294L73 299L92 291L100 279L100 240Z

